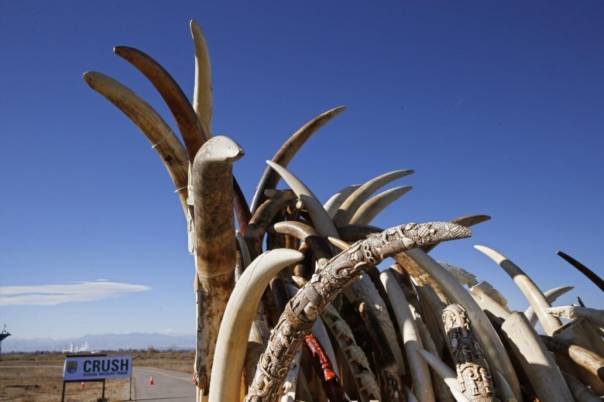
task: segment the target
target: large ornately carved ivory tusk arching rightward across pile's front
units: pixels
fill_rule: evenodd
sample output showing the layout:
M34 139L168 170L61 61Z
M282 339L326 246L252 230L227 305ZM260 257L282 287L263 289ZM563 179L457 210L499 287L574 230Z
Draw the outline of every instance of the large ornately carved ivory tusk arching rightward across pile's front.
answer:
M246 401L275 401L289 363L304 335L314 324L316 316L344 287L349 286L369 267L412 247L469 235L469 229L451 223L410 223L358 241L332 258L298 291L281 314L266 351L258 363Z

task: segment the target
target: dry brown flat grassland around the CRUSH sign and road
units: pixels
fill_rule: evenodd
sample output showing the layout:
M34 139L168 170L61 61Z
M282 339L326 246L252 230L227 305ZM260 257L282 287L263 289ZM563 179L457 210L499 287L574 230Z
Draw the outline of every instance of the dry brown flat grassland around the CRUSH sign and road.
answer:
M193 351L107 351L109 356L132 356L133 367L153 367L182 371L193 377ZM0 362L0 401L60 401L63 387L62 353L8 353ZM127 378L109 379L105 384L105 399L118 401L123 397L120 389L128 384ZM101 398L102 383L67 383L66 401L97 401ZM126 394L127 399L127 394Z

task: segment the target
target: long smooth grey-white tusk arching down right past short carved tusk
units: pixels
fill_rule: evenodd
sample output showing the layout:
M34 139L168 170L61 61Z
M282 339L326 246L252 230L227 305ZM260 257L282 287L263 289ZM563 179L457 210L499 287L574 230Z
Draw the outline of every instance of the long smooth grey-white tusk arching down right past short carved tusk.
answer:
M414 249L405 253L411 257L423 270L432 276L439 286L445 291L446 295L455 303L461 304L466 308L467 315L474 325L474 330L478 336L478 341L484 348L487 362L492 369L498 369L506 378L514 391L516 399L522 400L520 384L518 377L512 367L512 362L507 355L506 349L501 343L495 329L490 324L484 311L481 310L477 302L467 292L467 290L457 282L451 273L440 266L422 250Z

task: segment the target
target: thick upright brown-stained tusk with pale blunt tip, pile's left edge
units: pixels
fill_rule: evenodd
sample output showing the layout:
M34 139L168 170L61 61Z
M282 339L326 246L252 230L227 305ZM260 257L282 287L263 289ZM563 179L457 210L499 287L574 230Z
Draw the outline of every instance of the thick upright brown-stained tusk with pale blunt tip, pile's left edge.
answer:
M220 320L234 285L235 223L233 162L243 150L232 139L216 136L206 142L193 161L195 266L199 278L198 356L195 371L199 388L208 392Z

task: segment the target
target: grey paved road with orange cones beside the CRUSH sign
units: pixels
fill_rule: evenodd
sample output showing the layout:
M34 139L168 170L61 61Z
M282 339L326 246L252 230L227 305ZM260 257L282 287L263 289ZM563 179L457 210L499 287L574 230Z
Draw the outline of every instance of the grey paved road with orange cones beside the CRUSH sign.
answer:
M153 375L154 385L149 385ZM191 384L191 375L179 371L162 370L152 367L132 368L133 401L181 402L195 400L195 386ZM122 395L128 399L128 384Z

